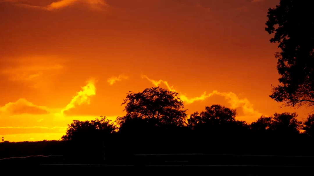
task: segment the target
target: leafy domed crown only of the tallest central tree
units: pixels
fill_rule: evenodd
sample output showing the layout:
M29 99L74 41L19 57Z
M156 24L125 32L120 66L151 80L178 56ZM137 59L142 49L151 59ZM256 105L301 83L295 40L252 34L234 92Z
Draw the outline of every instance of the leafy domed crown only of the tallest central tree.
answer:
M184 126L187 114L177 95L160 87L146 88L139 93L129 92L122 103L127 115L117 118L117 122L122 125L127 119L142 118L155 125Z

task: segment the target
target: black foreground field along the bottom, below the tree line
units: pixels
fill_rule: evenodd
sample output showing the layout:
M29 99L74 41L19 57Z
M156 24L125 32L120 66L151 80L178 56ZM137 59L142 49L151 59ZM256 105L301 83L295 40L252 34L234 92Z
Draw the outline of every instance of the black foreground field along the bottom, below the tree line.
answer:
M184 160L187 158L188 160ZM313 157L137 155L134 160L64 160L62 156L0 161L10 175L312 175ZM5 174L4 174L5 175Z

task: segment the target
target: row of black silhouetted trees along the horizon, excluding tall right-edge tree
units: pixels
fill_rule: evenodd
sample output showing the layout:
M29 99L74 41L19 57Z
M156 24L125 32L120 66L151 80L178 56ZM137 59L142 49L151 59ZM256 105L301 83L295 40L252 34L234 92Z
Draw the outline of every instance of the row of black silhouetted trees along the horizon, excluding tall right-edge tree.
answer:
M314 115L301 122L296 119L296 113L275 113L247 124L236 120L236 110L214 104L187 118L187 110L177 95L160 87L129 92L122 103L126 115L118 117L115 124L102 116L92 121L74 120L62 140L75 145L72 152L88 151L87 155L102 152L105 144L109 158L143 153L308 155L312 152Z

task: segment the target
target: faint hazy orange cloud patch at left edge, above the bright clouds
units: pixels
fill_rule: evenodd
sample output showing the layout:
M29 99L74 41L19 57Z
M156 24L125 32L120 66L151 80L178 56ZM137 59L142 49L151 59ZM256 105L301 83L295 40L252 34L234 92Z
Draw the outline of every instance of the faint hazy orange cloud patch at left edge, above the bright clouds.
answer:
M0 77L31 88L45 89L65 69L65 58L57 56L6 57L0 60Z

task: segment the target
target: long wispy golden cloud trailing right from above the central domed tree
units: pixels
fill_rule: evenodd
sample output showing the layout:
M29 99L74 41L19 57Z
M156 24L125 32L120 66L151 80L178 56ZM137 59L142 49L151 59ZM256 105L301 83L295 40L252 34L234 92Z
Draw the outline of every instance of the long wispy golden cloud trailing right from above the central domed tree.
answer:
M173 89L173 86L169 86L167 81L163 81L163 80L159 80L159 81L155 81L152 79L149 79L147 76L142 75L142 78L146 78L148 79L151 83L153 83L156 87L158 87L161 83L164 83L165 86L168 88L169 91L173 91L173 92L177 92L176 90ZM219 96L223 96L225 97L226 100L229 100L228 103L231 104L231 108L239 108L241 107L243 109L243 113L247 116L250 117L255 117L255 118L259 118L262 116L262 113L259 113L258 111L254 110L253 105L249 102L248 99L244 98L244 99L240 99L235 93L233 92L229 92L229 93L221 93L218 92L217 90L214 90L212 93L208 93L206 94L206 91L199 97L194 97L194 98L188 98L185 95L182 95L182 93L179 93L178 98L180 98L184 103L190 104L193 103L195 101L203 101L206 98L209 98L213 95L219 95Z

